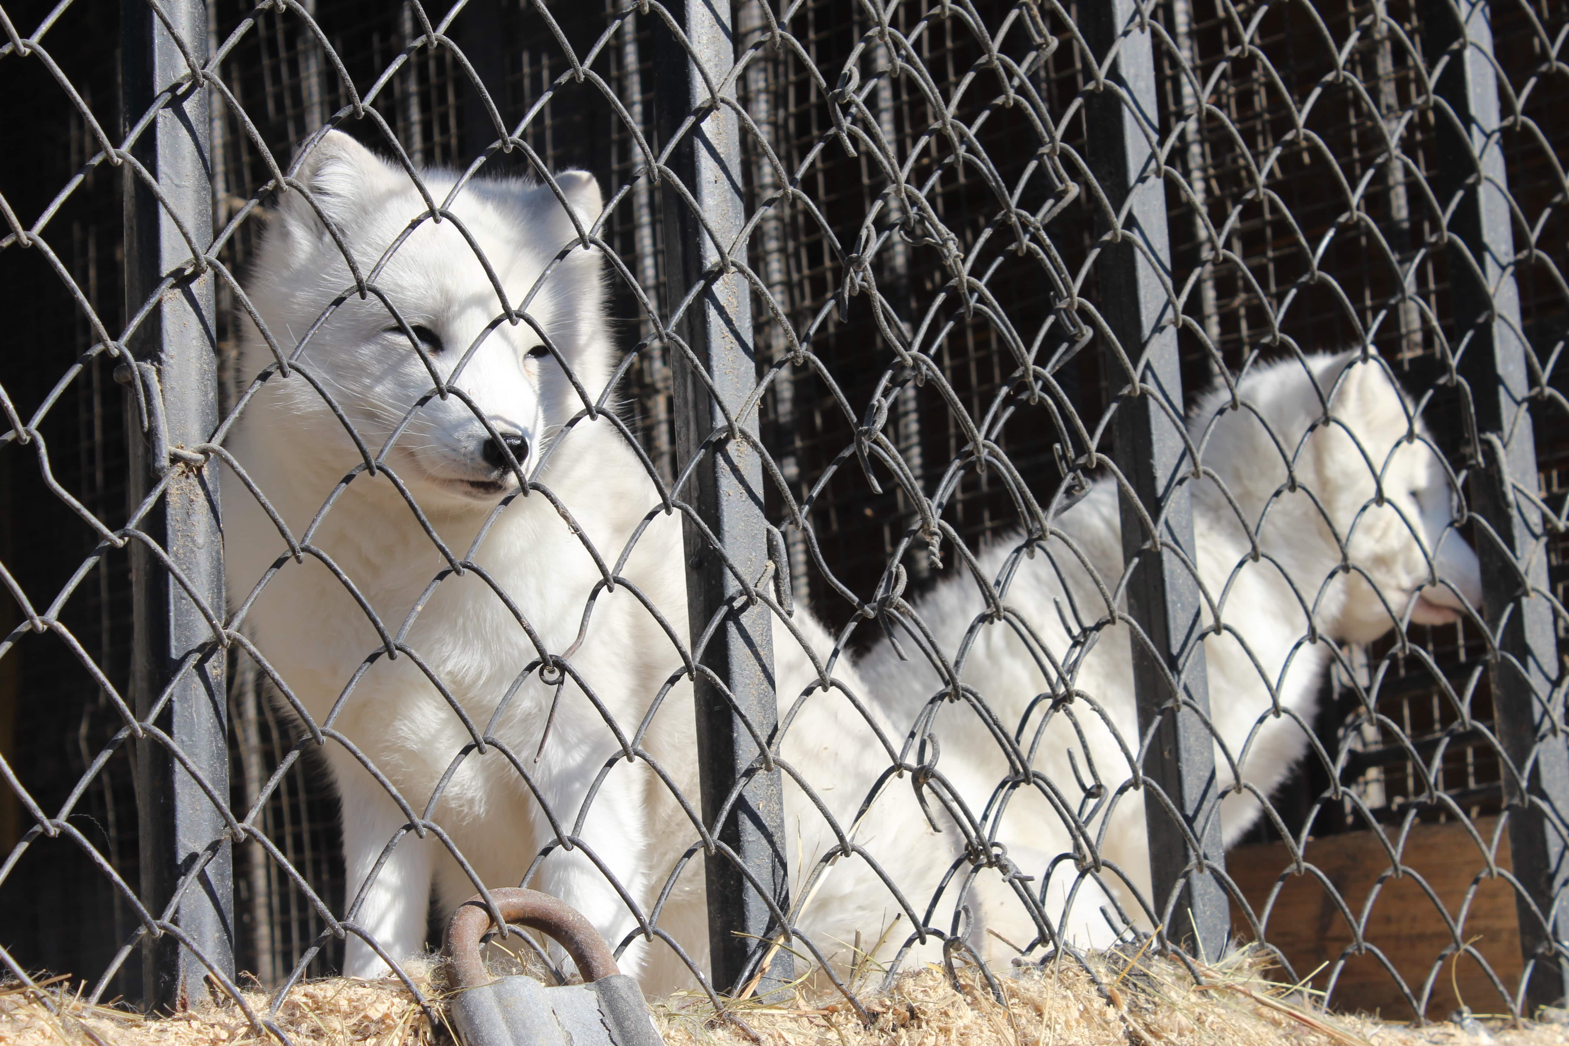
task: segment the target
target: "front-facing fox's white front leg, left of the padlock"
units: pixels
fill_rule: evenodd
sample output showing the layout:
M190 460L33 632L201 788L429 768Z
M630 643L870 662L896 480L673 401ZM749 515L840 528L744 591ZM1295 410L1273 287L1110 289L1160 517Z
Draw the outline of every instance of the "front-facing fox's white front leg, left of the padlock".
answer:
M439 844L406 831L383 861L383 852L408 825L408 817L364 767L344 767L337 776L344 804L347 919L402 963L425 949L431 858ZM344 975L386 977L389 972L386 960L350 932Z

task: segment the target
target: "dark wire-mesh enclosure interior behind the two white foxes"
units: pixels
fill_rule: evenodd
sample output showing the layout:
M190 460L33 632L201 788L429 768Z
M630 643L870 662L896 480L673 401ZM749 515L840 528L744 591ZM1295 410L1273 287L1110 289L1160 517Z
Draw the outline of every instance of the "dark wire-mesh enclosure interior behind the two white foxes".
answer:
M417 163L461 168L496 140L483 99L450 52L411 42L424 33L424 13L408 3L366 0L319 0L301 9L314 17L336 60L328 60L293 9L209 3L215 44L240 33L217 67L232 105L213 105L215 227L253 201L262 204L223 248L224 262L240 274L273 202L270 193L259 193L271 179L271 163L287 165L326 122L383 149L375 124L351 118L353 97L339 64L362 97L394 60L406 58L370 107ZM918 507L897 477L876 461L858 461L858 427L885 419L880 431L908 477L927 497L946 492L941 519L970 549L979 549L1014 535L1023 522L1010 481L1023 481L1047 505L1072 466L1094 450L1109 452L1109 434L1098 447L1084 445L1079 436L1100 431L1111 392L1120 387L1098 340L1073 318L1062 295L1070 284L1087 301L1100 295L1095 204L1076 168L1062 160L1086 152L1092 111L1084 99L1095 75L1076 44L1078 6L888 5L888 24L913 49L904 60L918 56L926 78L883 75L890 53L869 11L839 0L802 0L772 14L752 0L734 8L737 53L764 39L775 17L795 44L763 44L736 85L755 124L753 133L742 135L748 213L774 201L750 237L748 262L795 339L832 375L830 384L824 373L788 362L792 339L755 293L759 376L780 364L761 406L763 439L795 499L810 497L816 549L802 528L786 525L788 513L772 491L769 516L784 528L795 601L847 635L852 654L882 635L876 623L846 626L860 605L885 591L891 557L904 566L912 599L954 565L952 555L941 568L934 565L919 536ZM1454 336L1450 256L1428 183L1437 165L1439 118L1426 86L1425 63L1434 55L1423 52L1422 9L1404 0L1161 0L1149 13L1159 27L1155 56L1159 135L1169 146L1170 274L1183 295L1178 342L1189 398L1214 384L1222 365L1236 373L1293 353L1370 343L1400 373L1432 438L1462 472L1469 463L1461 390L1447 380L1445 359ZM52 19L38 50L47 52L58 72L14 42L0 50L0 96L27 99L8 105L8 147L0 149L0 193L8 218L16 215L0 240L0 287L9 314L0 387L31 433L22 439L11 431L0 444L0 563L8 585L25 593L33 610L49 607L44 616L58 627L30 627L30 610L0 596L0 623L9 634L0 646L0 756L31 804L50 817L69 808L64 822L77 837L39 834L22 798L0 787L0 853L11 855L0 864L0 947L20 969L71 972L93 983L137 928L122 892L93 858L99 855L133 884L138 837L132 748L111 742L124 723L85 668L91 662L124 692L130 560L124 550L110 550L77 576L100 543L82 513L110 530L126 519L127 439L140 433L133 433L129 394L113 375L116 361L89 351L100 339L86 309L110 332L124 328L127 311L121 274L126 174L97 155L88 114L110 138L124 133L127 116L137 114L119 110L116 6L52 9L24 2L8 5L6 14L22 33ZM598 0L555 6L552 16L576 55L595 52L588 67L610 85L624 113L651 130L648 17L601 8ZM1569 242L1561 158L1569 154L1566 28L1569 11L1561 3L1492 5L1500 88L1508 88L1503 147L1516 207L1514 278L1525 334L1541 364L1533 384L1544 390L1533 408L1541 494L1560 519L1569 499L1560 361L1569 332L1569 287L1561 271ZM639 176L643 157L626 116L592 82L573 77L566 52L529 3L474 0L449 35L508 127L533 110L521 136L551 169L592 171L607 196L629 187L604 237L648 298L664 301L661 207L667 198ZM844 149L830 94L847 83L841 75L847 66L858 71L863 86L874 85L861 91L857 119L863 130L876 124L905 163L905 182L923 187L924 204L954 234L949 245L904 237L907 215L888 193L874 151L852 155ZM1034 102L1007 100L1020 88L1004 69L1023 71ZM61 89L61 78L74 86L75 99ZM1032 105L1054 121L1050 151ZM945 121L960 124L963 136L943 133ZM1385 146L1393 129L1400 132L1395 158ZM799 196L778 196L778 169L759 140L792 173ZM526 168L519 154L497 154L485 173ZM1014 249L1015 234L995 183L1009 187L1012 205L1042 223L1059 270L1048 276L1039 252ZM25 243L20 229L31 231L27 235L36 243ZM871 251L868 237L885 240ZM952 252L984 285L987 309L965 309L946 293ZM916 383L897 365L865 292L868 282L855 279L868 254L874 257L871 282L886 307L883 323L896 321L905 339L919 332L946 387ZM650 343L654 328L624 278L612 287L617 345L635 351L618 411L670 480L676 475L672 361ZM246 320L224 287L217 315L228 353L220 361L228 414L253 375L234 365ZM1020 378L1021 358L1050 372L1083 428L1064 425L1053 416L1053 400ZM69 380L61 383L61 375ZM1010 474L970 455L968 430L977 423ZM1560 601L1569 580L1564 549L1560 530L1550 547ZM67 597L56 607L61 591ZM1503 808L1486 652L1470 624L1412 626L1404 638L1346 648L1313 725L1327 761L1310 754L1272 797L1274 817L1260 820L1244 844L1276 842L1282 828L1301 842L1374 825L1400 830L1461 819L1480 822L1481 839L1506 850L1506 841L1489 834L1492 822L1483 820ZM259 828L282 858L254 844L235 847L237 966L273 986L295 971L309 946L322 942L325 927L282 863L334 911L345 903L337 812L309 748L268 786L282 754L297 746L298 728L270 699L251 662L231 657L229 665L232 806L251 809L265 787L273 789ZM1465 864L1480 873L1487 855L1469 853ZM1285 863L1268 870L1271 880L1288 872ZM1382 870L1389 873L1387 863ZM1459 914L1458 900L1445 899L1451 916ZM1412 911L1407 917L1431 916ZM1268 939L1269 924L1263 928ZM1465 936L1464 925L1459 933ZM334 972L340 949L328 935L306 972ZM1401 980L1352 952L1348 946L1337 953L1315 983ZM1437 983L1447 974L1429 975L1443 968L1447 953L1434 952L1420 977L1404 979L1418 1005L1447 991ZM1478 963L1480 953L1462 961ZM1513 993L1509 977L1519 975L1519 957L1487 952L1486 963L1497 966ZM137 963L124 963L105 997L140 997L140 975ZM1503 997L1467 1002L1476 1010L1514 1005Z

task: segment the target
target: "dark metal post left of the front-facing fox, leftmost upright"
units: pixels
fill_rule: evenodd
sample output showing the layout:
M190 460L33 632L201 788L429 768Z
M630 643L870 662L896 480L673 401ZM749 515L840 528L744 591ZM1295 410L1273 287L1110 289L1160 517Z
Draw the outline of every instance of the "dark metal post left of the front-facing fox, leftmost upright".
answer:
M168 565L147 543L132 541L132 690L137 715L168 739L149 731L137 746L137 808L141 900L173 922L188 947L166 932L144 939L149 1010L204 999L209 969L234 975L231 842L223 814L191 776L195 770L228 798L224 657L202 607L174 574L223 619L217 467L171 455L206 442L218 423L215 278L206 263L193 265L185 238L201 251L212 242L210 93L190 78L187 66L187 55L206 61L207 8L202 0L160 2L162 16L143 0L126 0L121 8L127 129L160 105L130 152L163 199L130 163L122 165L126 312L147 314L130 339L135 365L116 373L137 383L146 401L146 427L141 411L130 411L132 508L166 485L135 528L163 550ZM190 770L176 761L174 748Z

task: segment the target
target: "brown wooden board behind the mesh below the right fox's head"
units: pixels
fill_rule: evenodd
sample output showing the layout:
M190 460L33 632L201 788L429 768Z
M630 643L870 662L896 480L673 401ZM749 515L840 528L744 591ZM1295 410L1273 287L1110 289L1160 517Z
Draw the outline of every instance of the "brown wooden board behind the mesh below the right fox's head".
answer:
M1396 1019L1414 1016L1395 977L1373 953L1376 947L1418 1002L1426 996L1426 1016L1447 1016L1462 1001L1475 1013L1503 1013L1503 997L1483 964L1469 953L1458 960L1453 953L1458 933L1481 953L1506 991L1517 990L1523 963L1514 889L1487 870L1489 852L1498 869L1511 867L1509 841L1498 831L1497 817L1478 819L1475 828L1483 845L1462 823L1412 825L1404 839L1398 828L1385 826L1384 837L1404 872L1398 877L1390 850L1373 831L1309 841L1302 858L1323 878L1310 869L1294 875L1285 844L1236 847L1225 855L1225 870L1258 916L1265 939L1285 953L1298 977L1316 969L1312 986L1324 990L1334 975L1332 1008L1381 1011ZM1437 895L1437 903L1417 877ZM1362 939L1371 946L1365 953L1349 947L1352 922L1324 880L1362 925ZM1232 932L1238 939L1254 936L1235 900Z

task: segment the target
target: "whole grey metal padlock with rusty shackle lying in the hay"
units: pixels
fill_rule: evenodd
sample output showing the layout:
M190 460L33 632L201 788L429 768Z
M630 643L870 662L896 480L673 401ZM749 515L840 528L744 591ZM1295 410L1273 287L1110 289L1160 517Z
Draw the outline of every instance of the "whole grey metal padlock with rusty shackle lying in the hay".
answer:
M447 922L452 1024L463 1046L664 1046L637 982L615 966L610 947L566 903L535 889L490 892L508 924L540 930L577 963L581 985L546 988L533 977L491 980L480 938L491 928L482 895Z

